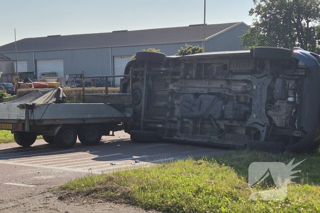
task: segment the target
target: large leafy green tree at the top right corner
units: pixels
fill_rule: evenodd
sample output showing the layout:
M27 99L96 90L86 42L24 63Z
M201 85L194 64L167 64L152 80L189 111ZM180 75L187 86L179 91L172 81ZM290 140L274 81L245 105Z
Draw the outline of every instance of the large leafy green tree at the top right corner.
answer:
M246 49L256 46L301 47L320 52L320 0L253 0L255 16L240 37Z

